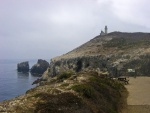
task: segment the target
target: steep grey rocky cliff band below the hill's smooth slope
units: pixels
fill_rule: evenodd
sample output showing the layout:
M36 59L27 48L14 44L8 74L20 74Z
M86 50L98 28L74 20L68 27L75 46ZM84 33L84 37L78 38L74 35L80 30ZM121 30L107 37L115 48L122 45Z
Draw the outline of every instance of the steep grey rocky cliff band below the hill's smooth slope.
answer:
M55 76L63 71L97 70L99 72L110 70L111 67L109 58L105 56L83 56L52 61L48 71L49 75Z

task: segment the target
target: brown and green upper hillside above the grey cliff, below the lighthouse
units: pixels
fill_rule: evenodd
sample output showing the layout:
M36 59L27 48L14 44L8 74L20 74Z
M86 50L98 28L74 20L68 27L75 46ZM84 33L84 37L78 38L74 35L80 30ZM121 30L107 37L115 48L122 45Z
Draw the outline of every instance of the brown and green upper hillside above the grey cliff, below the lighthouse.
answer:
M131 55L133 50L148 49L149 45L150 33L112 32L107 35L98 35L78 48L54 58L54 60L120 53Z

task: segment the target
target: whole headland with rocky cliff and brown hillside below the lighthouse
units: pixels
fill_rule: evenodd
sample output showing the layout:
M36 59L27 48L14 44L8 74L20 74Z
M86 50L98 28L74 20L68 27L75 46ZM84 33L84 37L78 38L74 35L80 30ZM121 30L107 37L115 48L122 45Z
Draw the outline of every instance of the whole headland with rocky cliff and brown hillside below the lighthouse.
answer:
M97 36L80 47L51 60L48 76L64 70L79 72L90 68L112 76L149 75L150 33L112 32ZM43 75L46 76L46 75Z

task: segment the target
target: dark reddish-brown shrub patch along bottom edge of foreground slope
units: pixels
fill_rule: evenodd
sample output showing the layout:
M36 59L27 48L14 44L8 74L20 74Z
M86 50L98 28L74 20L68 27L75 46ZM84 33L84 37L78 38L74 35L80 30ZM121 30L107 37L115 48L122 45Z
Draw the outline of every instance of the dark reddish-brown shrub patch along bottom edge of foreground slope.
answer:
M38 97L42 101L36 103L34 113L71 113L72 111L75 113L85 106L82 100L72 93L58 95L42 93L38 94Z

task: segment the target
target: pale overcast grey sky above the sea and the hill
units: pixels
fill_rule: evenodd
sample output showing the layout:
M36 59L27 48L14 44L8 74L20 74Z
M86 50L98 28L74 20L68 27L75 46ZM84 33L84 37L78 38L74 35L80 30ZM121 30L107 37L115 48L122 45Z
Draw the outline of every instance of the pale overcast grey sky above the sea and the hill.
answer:
M150 0L0 0L0 59L51 59L108 32L150 32Z

